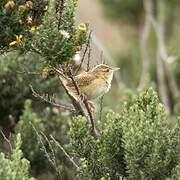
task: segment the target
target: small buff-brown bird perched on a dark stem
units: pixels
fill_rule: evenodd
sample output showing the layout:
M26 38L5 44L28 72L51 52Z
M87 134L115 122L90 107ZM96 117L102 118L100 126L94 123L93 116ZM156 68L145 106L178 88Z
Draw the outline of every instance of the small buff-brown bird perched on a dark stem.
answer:
M81 95L90 102L103 96L110 90L113 74L119 69L118 67L113 68L106 64L99 64L87 72L83 71L74 76L73 79ZM68 93L73 96L76 101L79 101L80 94L78 94L73 80L68 77L62 69L54 68L54 70Z

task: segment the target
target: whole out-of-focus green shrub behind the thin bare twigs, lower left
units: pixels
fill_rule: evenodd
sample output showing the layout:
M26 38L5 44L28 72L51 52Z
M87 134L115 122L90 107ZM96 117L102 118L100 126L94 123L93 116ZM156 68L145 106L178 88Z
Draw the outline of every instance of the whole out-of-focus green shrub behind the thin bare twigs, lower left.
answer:
M36 176L49 174L49 176L55 178L56 172L54 167L47 159L47 154L42 150L43 145L46 148L46 152L49 153L53 159L52 152L47 139L42 136L42 133L49 138L51 134L60 144L66 146L68 138L66 132L68 131L68 117L67 114L61 114L54 116L50 108L45 108L42 112L34 111L31 100L26 100L25 107L20 120L15 127L15 133L22 134L22 151L24 156L31 163L31 171ZM71 179L73 171L71 170L71 164L64 156L64 153L55 144L52 143L54 155L58 168L60 169L63 179Z

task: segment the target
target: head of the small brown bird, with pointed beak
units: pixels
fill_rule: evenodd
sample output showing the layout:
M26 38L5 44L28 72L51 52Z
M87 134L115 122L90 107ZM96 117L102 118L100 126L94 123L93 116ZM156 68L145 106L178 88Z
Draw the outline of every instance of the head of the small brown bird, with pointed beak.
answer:
M91 70L91 72L94 74L97 74L98 76L103 76L105 78L108 78L108 77L111 77L113 75L113 73L119 69L120 68L113 68L106 64L99 64L99 65L95 66Z

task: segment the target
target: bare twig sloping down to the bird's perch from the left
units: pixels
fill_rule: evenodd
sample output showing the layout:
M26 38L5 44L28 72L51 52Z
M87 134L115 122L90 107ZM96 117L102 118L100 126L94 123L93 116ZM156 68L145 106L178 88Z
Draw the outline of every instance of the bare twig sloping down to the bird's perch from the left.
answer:
M57 103L55 103L55 102L52 102L52 100L49 100L49 99L45 98L44 96L38 94L38 93L33 89L32 85L30 85L30 88L31 88L31 91L32 91L34 97L36 97L36 98L38 98L38 99L40 99L40 100L42 100L42 101L44 101L44 102L46 102L46 103L48 103L48 104L51 104L52 106L57 107L57 108L59 108L59 109L66 110L66 111L70 111L70 112L72 112L72 113L75 113L75 112L76 112L75 109L74 109L72 106L67 106L67 105L64 105L64 104L57 104Z

